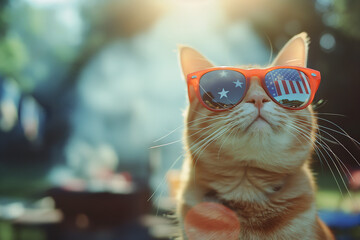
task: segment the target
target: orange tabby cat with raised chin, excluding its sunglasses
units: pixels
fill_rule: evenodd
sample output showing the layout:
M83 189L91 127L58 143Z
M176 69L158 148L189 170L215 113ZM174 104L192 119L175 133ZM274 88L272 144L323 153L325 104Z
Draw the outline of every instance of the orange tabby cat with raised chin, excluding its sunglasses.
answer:
M194 49L179 50L185 76L213 67ZM296 35L272 66L306 67L307 51L307 35ZM257 77L228 111L206 109L191 87L189 99L177 207L181 239L334 239L315 206L311 106L280 107Z

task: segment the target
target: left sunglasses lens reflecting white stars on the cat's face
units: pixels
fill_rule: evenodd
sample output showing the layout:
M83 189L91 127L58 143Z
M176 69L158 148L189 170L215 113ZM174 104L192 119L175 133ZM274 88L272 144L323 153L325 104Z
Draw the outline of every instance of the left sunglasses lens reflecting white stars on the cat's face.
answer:
M211 109L227 109L244 97L244 75L232 70L214 70L205 73L199 83L203 102Z

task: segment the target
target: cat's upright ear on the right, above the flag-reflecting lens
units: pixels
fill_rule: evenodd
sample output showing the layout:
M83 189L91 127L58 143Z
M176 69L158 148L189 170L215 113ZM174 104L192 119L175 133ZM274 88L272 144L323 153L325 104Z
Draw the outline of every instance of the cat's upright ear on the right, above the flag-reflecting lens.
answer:
M306 67L309 42L305 32L294 36L281 49L272 65Z

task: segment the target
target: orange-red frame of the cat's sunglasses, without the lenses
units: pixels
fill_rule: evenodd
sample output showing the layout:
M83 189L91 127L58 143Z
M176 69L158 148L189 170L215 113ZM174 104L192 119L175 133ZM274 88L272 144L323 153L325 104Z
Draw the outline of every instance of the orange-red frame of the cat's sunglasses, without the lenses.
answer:
M272 70L276 70L276 69L280 69L280 68L289 68L289 69L295 69L298 71L303 72L307 78L309 79L309 85L310 85L310 98L309 101L299 107L299 108L291 108L291 107L286 107L284 105L281 105L278 101L276 101L276 99L271 96L271 94L269 93L268 89L265 86L265 75L272 71ZM234 106L230 107L230 108L226 108L226 109L212 109L210 107L208 107L202 100L201 95L200 95L200 88L199 88L199 83L200 83L200 79L201 77L208 73L208 72L212 72L212 71L216 71L216 70L232 70L232 71L236 71L239 72L241 74L244 75L245 79L246 79L246 89L244 92L244 96L239 100L238 103L236 103ZM201 102L201 104L209 109L210 111L215 111L215 112L222 112L222 111L227 111L235 106L237 106L239 103L241 103L244 99L244 97L246 96L247 91L249 90L250 87L250 81L252 77L259 77L261 80L261 86L262 88L265 90L266 94L278 105L280 105L283 108L286 109L290 109L290 110L301 110L306 108L307 106L309 106L312 101L314 100L315 97L315 93L320 85L320 81L321 81L321 75L319 71L316 71L314 69L311 68L303 68L303 67L295 67L295 66L276 66L276 67L270 67L270 68L264 68L264 69L241 69L241 68L235 68L235 67L214 67L214 68L209 68L209 69L205 69L205 70L201 70L201 71L197 71L197 72L193 72L187 75L187 85L188 85L188 94L189 94L189 100L191 102L191 98L190 98L190 87L193 87L193 89L195 90L196 96L199 99L199 101Z

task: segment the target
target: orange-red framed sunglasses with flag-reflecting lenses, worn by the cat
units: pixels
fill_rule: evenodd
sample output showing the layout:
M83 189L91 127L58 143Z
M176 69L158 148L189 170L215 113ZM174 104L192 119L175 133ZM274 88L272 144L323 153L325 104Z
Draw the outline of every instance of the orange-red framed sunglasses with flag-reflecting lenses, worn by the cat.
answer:
M193 87L207 109L225 111L241 103L253 76L261 79L263 89L275 103L292 110L304 109L313 101L321 80L319 71L302 67L215 67L188 74L188 90Z

